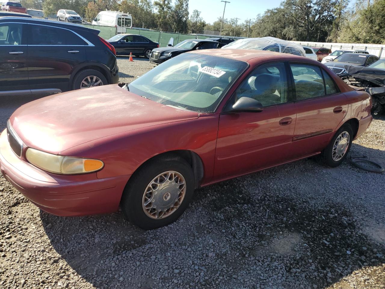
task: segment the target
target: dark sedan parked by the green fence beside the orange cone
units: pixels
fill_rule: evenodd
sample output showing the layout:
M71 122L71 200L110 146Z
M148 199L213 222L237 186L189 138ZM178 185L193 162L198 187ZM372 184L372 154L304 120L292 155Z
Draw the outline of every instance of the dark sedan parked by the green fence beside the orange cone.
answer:
M137 34L117 34L107 41L115 47L116 55L132 52L132 55L149 58L152 49L159 47L159 43Z

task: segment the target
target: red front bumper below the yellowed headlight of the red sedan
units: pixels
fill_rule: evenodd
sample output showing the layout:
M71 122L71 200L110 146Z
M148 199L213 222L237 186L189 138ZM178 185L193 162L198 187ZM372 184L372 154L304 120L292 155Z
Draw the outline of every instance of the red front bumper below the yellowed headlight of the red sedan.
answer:
M0 171L37 207L58 216L116 212L129 179L129 176L98 179L96 173L84 175L84 180L82 175L49 174L13 153L6 131L0 135Z

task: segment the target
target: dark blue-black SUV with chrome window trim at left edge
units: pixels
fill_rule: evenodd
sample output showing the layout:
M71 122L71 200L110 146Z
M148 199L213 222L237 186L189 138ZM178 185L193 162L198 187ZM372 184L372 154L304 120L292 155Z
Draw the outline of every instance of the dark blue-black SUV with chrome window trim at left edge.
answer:
M114 47L99 30L35 18L0 18L0 96L117 83Z

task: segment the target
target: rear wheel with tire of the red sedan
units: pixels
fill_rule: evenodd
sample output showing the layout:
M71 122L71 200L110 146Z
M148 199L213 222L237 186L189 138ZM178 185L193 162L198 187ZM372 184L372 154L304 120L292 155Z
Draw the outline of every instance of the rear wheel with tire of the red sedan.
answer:
M353 129L350 124L346 123L338 129L328 146L321 152L320 162L332 168L339 166L345 160L352 141Z

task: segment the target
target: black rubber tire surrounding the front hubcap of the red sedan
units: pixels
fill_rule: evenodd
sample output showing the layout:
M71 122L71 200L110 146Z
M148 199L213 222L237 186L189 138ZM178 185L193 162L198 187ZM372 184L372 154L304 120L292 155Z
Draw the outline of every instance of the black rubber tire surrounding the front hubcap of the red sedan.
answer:
M151 181L156 176L166 171L176 171L184 177L184 180L186 181L186 192L182 203L173 213L164 218L154 219L147 216L144 212L144 209L142 208L142 199L144 191ZM131 223L142 229L151 230L160 228L175 222L182 215L192 200L194 188L194 173L192 172L191 166L189 166L186 161L181 158L157 158L153 161L149 161L149 163L132 175L123 191L121 200L122 212ZM161 194L158 196L161 196Z

